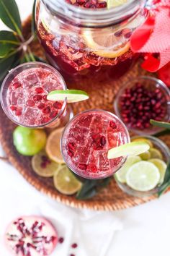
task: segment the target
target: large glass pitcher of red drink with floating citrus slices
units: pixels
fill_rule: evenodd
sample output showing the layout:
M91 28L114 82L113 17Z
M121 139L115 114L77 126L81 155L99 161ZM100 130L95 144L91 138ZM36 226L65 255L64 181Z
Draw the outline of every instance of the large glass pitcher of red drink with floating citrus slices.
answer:
M37 35L65 78L117 79L131 67L130 35L148 12L145 0L123 2L108 9L99 0L37 1Z

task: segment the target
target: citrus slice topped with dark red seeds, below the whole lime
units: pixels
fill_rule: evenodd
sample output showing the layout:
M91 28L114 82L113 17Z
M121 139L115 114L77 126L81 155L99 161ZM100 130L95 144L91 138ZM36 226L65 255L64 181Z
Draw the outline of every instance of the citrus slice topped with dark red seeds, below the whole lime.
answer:
M32 168L42 177L51 177L60 168L60 164L50 161L45 151L41 151L32 158Z

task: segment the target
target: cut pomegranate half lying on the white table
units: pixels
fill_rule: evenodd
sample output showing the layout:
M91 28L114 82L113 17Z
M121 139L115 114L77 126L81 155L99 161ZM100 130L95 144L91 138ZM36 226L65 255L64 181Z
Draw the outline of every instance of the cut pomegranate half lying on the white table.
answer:
M16 256L47 256L53 252L58 235L45 218L23 216L6 229L5 242Z

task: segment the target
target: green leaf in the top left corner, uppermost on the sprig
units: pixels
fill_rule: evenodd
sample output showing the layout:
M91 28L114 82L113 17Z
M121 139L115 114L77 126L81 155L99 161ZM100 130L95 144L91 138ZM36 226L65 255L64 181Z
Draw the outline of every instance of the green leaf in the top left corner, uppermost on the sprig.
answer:
M14 0L0 0L0 19L7 27L22 35L19 10Z

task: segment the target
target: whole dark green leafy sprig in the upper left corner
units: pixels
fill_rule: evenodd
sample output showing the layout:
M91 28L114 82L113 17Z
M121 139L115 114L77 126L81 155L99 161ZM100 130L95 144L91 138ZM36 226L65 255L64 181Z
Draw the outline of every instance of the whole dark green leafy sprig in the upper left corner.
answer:
M9 27L0 31L0 82L9 69L27 61L36 61L30 43L35 38L35 1L32 10L32 35L29 40L22 34L22 22L15 0L0 0L0 20ZM38 59L39 60L39 59Z

